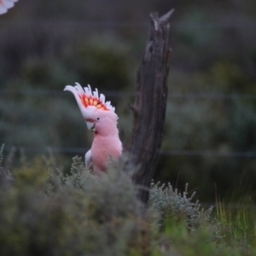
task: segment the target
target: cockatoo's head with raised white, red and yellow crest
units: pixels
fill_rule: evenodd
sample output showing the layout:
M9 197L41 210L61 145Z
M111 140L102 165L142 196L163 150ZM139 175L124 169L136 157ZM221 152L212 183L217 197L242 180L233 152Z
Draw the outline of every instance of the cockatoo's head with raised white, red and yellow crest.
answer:
M99 96L97 89L92 91L89 84L83 89L76 83L75 86L67 85L64 90L71 91L75 96L89 130L102 136L111 136L117 132L118 116L114 113L115 108L111 102L105 102L104 95Z

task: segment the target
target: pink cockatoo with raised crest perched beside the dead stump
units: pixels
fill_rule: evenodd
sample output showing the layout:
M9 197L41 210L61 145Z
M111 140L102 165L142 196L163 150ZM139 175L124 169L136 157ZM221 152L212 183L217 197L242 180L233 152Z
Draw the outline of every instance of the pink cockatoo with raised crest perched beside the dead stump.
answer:
M99 96L97 89L92 91L89 84L84 89L78 83L67 85L64 90L73 93L88 129L94 131L91 148L85 154L85 166L92 165L96 173L105 172L110 161L118 159L122 153L115 108L111 102L105 102L104 95Z

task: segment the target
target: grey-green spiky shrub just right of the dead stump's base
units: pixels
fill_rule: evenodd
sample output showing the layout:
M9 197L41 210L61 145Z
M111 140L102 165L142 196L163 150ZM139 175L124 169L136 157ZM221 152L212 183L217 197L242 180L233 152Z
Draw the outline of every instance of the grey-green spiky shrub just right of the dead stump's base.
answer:
M201 207L199 201L193 202L195 192L188 196L188 183L183 192L173 189L171 183L151 183L148 207L160 212L165 218L185 218L187 228L196 230L201 224L208 224L211 220L213 207L207 211Z

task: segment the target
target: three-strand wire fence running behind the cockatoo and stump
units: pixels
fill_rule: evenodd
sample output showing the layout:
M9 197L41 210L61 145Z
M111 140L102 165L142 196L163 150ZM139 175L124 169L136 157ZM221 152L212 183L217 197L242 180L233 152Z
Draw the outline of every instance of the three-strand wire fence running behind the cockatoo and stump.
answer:
M42 26L83 26L83 27L130 27L145 28L148 22L130 22L130 21L93 21L93 20L0 20L1 25L21 26L21 25L42 25ZM191 29L256 29L256 22L250 23L172 23L173 28L191 28ZM123 91L103 91L105 96L122 97ZM61 90L9 90L0 89L0 98L14 95L22 96L68 96ZM135 96L133 92L126 92L125 96ZM224 93L174 93L168 95L169 99L210 99L210 100L256 100L256 95L251 94L224 94ZM89 148L70 148L70 147L5 147L4 151L23 150L27 153L40 154L84 154ZM215 150L162 150L160 155L164 156L201 156L201 157L229 157L229 158L256 158L256 152L237 152L237 151L215 151Z

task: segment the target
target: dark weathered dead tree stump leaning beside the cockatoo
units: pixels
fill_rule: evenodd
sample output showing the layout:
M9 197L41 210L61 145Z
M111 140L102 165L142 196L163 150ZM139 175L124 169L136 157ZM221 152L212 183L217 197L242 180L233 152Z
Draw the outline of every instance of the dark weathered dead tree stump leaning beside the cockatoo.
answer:
M146 203L148 189L159 158L166 116L167 78L171 48L169 20L173 9L161 17L150 14L148 41L143 61L137 73L136 99L133 111L131 139L126 151L131 164L137 166L134 181L138 185L138 198Z

